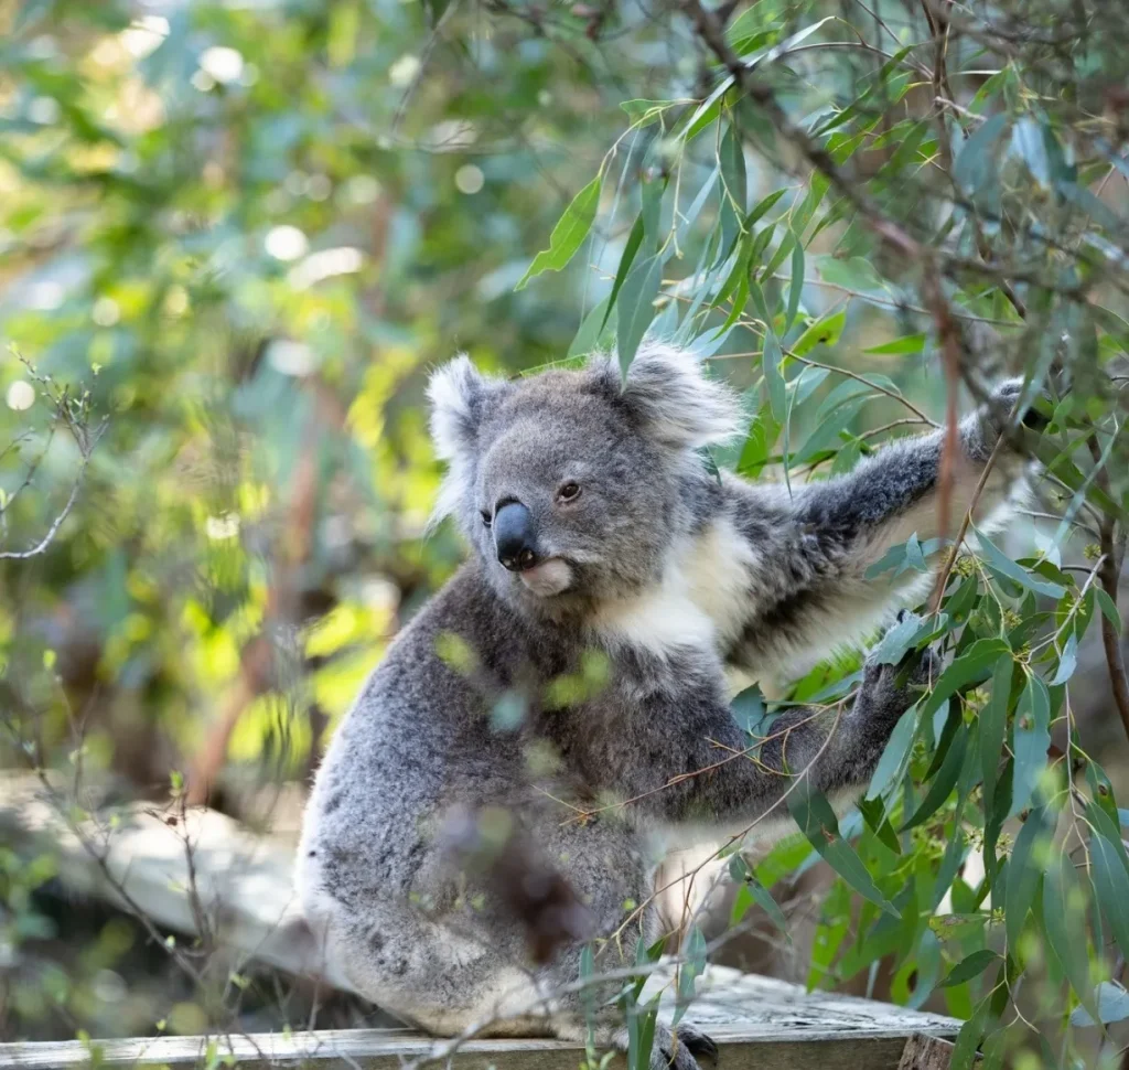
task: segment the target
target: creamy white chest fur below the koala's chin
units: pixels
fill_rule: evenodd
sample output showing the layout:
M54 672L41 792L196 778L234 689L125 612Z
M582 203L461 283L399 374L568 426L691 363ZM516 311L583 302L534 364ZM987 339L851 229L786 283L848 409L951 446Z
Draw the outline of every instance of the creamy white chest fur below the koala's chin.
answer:
M741 633L753 563L749 542L719 517L672 553L653 588L604 606L595 630L662 658L688 646L717 650Z

